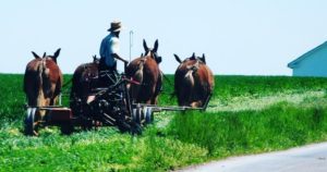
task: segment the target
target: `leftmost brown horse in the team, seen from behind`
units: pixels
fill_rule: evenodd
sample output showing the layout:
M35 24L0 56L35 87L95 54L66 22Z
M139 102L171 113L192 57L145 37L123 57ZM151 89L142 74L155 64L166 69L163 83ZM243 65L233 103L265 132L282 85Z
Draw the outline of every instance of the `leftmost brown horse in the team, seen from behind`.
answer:
M60 53L58 49L53 56L44 54L40 58L33 52L34 60L28 62L24 75L24 91L28 107L53 106L58 99L62 86L62 73L57 65L57 58ZM41 121L45 112L37 111L35 122ZM34 128L34 126L33 126ZM35 131L29 131L36 134Z

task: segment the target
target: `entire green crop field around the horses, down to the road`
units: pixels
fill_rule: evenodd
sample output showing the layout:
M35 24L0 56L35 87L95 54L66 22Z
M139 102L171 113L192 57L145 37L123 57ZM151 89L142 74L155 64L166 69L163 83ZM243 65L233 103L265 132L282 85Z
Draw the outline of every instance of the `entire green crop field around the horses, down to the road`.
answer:
M177 105L168 77L159 103ZM156 113L142 135L114 127L62 135L51 126L38 137L22 132L22 81L0 74L0 171L169 171L327 140L327 78L216 76L206 112Z

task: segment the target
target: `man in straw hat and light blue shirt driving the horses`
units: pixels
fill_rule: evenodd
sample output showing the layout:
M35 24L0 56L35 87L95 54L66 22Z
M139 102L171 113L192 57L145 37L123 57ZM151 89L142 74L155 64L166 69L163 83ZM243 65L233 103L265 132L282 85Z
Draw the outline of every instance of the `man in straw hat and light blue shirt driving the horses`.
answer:
M108 29L110 34L106 36L100 46L100 63L99 63L99 84L100 86L109 86L114 84L117 74L117 60L123 60L119 53L119 34L121 27L121 22L111 22L111 27Z

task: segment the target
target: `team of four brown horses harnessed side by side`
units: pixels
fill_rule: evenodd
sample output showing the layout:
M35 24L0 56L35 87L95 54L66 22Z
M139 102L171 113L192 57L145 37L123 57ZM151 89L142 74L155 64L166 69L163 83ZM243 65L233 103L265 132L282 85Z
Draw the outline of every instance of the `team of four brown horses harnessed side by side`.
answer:
M135 58L125 69L126 77L134 81L128 85L131 100L135 103L157 105L158 96L162 87L164 74L159 64L161 57L158 56L158 40L149 48L145 40L145 52ZM63 77L57 64L60 49L53 56L44 53L39 57L33 52L34 59L28 62L24 75L24 91L29 107L47 107L56 105L61 91ZM180 63L174 74L174 95L179 106L202 107L214 90L214 75L206 65L205 56L181 60L174 54ZM77 66L72 77L70 99L87 99L93 88L98 86L99 59L94 57L93 62ZM73 107L71 107L73 108ZM36 113L37 122L43 121L45 112Z

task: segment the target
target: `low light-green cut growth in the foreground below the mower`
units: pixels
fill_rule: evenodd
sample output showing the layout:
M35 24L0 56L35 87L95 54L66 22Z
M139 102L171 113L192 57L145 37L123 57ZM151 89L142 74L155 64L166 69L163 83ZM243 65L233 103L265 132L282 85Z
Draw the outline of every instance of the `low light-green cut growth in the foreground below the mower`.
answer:
M150 127L143 136L131 136L107 127L61 136L48 128L39 137L26 137L5 128L0 131L0 171L164 171L206 158L205 149L157 132Z

